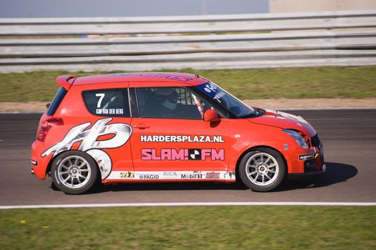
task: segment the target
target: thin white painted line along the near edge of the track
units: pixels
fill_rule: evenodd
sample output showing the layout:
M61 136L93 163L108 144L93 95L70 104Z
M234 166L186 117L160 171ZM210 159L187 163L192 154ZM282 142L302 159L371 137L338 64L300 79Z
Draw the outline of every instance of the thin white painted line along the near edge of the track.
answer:
M0 206L0 209L69 209L119 206L376 206L376 202L172 202Z

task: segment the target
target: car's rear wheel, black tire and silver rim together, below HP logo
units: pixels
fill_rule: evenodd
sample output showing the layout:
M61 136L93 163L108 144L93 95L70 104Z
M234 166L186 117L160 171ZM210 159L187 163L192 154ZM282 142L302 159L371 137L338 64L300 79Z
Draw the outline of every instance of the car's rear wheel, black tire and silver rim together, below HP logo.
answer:
M89 154L66 151L54 159L51 166L52 181L65 194L83 194L98 180L98 167Z

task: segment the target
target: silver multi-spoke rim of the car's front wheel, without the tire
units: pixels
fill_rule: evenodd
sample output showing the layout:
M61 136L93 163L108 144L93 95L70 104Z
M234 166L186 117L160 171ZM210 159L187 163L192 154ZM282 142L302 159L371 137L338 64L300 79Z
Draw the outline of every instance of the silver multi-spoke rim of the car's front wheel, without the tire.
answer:
M272 184L279 173L277 160L265 152L259 152L249 157L245 168L247 178L257 186Z

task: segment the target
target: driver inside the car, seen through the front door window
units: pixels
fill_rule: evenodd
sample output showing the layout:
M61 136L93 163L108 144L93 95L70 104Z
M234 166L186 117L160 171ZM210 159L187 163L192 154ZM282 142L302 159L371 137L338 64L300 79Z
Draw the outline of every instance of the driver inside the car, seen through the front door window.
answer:
M164 117L172 117L177 109L179 94L173 88L159 88L155 91L159 99L158 113Z

